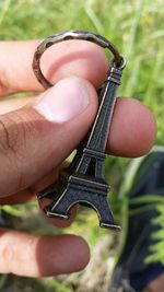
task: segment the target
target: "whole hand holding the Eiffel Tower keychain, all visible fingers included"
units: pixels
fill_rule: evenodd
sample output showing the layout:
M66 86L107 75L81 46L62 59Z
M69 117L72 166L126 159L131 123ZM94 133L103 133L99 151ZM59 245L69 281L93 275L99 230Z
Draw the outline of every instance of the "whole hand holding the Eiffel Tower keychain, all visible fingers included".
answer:
M107 60L96 45L71 40L52 46L43 56L44 73L56 83L43 92L32 71L38 42L0 43L0 96L42 92L37 97L0 104L0 203L22 203L50 184L67 155L91 126ZM149 109L132 98L117 100L107 151L140 156L153 144L156 125ZM51 220L56 225L72 222ZM65 223L63 223L65 222ZM54 276L80 270L90 259L79 236L33 236L0 232L0 272ZM69 250L69 253L68 253Z

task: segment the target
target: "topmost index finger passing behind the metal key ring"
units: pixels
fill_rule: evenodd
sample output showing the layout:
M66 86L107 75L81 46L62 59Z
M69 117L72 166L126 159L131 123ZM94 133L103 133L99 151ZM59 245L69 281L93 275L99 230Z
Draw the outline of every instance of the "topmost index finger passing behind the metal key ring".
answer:
M40 40L0 42L0 96L15 92L42 91L32 70ZM51 83L77 75L99 86L106 75L103 49L86 40L67 40L51 46L42 58L42 70Z

